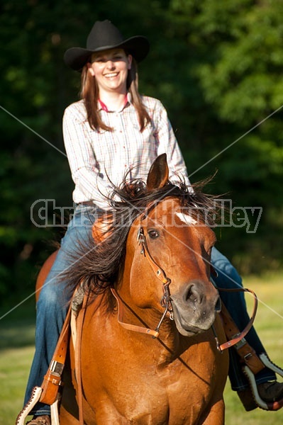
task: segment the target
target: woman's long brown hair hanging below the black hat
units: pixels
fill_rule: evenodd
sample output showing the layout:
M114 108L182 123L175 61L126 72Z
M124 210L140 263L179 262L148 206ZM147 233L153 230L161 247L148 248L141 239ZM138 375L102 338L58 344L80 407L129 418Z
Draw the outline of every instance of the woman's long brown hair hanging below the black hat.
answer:
M127 53L126 53L127 54ZM84 105L87 110L87 120L93 130L113 131L113 128L106 125L102 120L97 110L97 102L99 100L99 87L96 80L88 72L87 64L82 69L81 80L81 98L84 99ZM150 115L143 105L143 101L138 93L138 69L135 59L133 58L131 69L128 71L127 89L131 94L131 102L138 113L138 122L140 123L140 132L142 132L150 120Z

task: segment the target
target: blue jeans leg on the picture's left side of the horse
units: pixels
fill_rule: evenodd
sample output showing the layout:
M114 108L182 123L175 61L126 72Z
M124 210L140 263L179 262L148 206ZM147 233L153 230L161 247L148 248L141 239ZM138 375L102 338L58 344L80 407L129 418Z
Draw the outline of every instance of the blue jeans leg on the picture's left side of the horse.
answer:
M80 248L79 242L87 242L91 237L91 224L95 220L95 212L93 207L77 206L65 237L62 238L55 262L41 289L36 307L35 355L28 378L25 404L30 399L33 387L42 384L52 360L72 296L62 273L72 265L74 252ZM38 403L30 413L50 414L50 406Z

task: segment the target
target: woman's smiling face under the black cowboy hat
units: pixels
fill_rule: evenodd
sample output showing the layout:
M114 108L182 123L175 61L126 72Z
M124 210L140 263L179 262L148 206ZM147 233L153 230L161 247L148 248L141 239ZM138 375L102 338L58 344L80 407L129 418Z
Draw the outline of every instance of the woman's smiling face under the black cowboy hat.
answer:
M89 72L99 86L99 95L103 92L126 94L128 69L131 69L132 56L123 49L110 49L94 53Z

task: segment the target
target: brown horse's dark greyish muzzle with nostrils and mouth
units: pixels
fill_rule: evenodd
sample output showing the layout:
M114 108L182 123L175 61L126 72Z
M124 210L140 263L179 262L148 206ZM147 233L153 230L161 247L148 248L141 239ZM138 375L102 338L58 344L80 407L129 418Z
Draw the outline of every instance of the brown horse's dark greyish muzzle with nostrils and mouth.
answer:
M221 310L218 291L210 282L193 280L171 295L174 320L180 334L193 336L206 331Z

